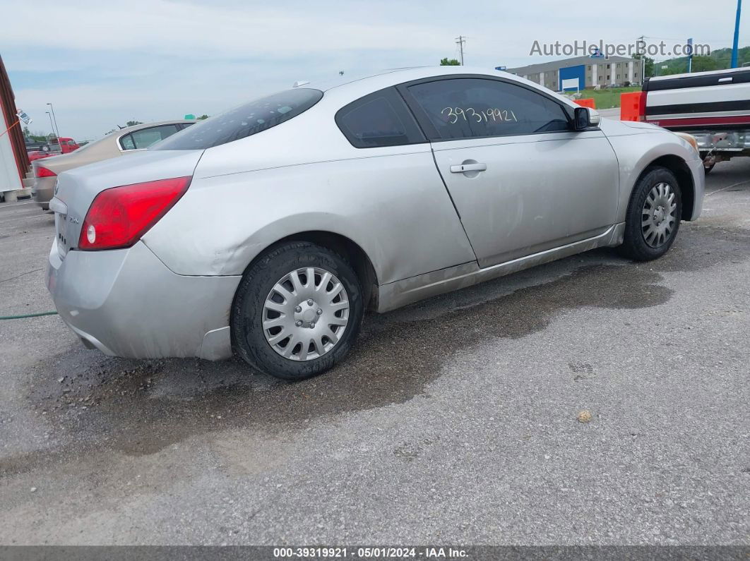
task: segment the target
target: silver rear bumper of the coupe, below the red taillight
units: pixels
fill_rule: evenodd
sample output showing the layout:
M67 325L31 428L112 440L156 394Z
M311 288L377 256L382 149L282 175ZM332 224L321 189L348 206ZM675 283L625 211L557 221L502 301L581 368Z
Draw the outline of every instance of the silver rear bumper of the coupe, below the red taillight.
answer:
M130 249L49 252L46 284L87 347L128 358L231 357L229 311L240 276L172 273L142 242Z

